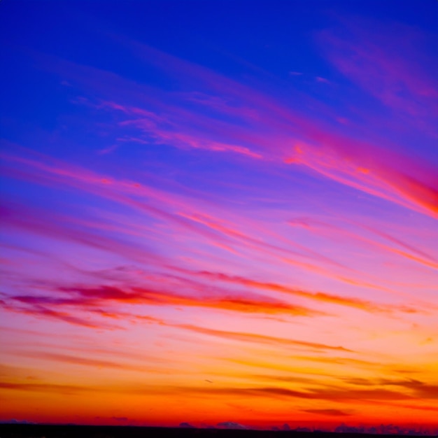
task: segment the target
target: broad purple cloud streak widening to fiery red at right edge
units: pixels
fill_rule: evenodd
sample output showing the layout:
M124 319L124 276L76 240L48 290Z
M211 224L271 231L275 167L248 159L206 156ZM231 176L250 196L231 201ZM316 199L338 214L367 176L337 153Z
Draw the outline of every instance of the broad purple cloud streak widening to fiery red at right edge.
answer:
M88 88L92 86L93 90L101 91L105 97L120 95L120 91L110 92L117 84L123 90L123 97L120 103L113 102L104 106L106 109L117 108L115 111L120 111L127 98L132 97L132 102L138 102L139 96L144 96L148 106L147 117L139 116L134 121L130 120L129 124L148 132L155 131L153 135L160 141L174 143L174 146L185 143L188 147L229 150L253 157L265 156L268 162L300 164L343 185L432 217L437 216L435 169L427 162L414 162L402 153L390 151L390 148L372 141L340 134L334 127L325 125L311 115L304 117L283 99L276 100L256 88L242 85L204 66L178 59L135 41L126 40L124 43L143 61L155 65L170 76L174 77L174 72L178 71L178 78L174 79L182 87L185 82L195 80L199 92L213 99L220 96L222 101L225 97L228 104L216 105L218 113L227 113L227 107L232 111L235 104L253 108L253 111L243 111L237 115L234 112L232 120L218 120L216 117L213 122L213 118L197 108L185 108L184 99L181 100L181 95L184 97L185 94L171 94L162 90L151 92L150 87L132 83L114 74L108 76L108 72L66 62L57 62L55 67L53 60L45 60L45 68L57 69L63 76L74 76L80 85ZM351 56L345 55L344 59L351 59ZM383 71L382 75L390 78L388 71ZM108 86L104 90L106 79ZM134 99L136 92L138 97ZM156 120L162 120L163 116L149 108L160 108L160 113L167 113L164 120L169 117L179 118L175 132L157 128ZM124 112L132 111L126 109ZM141 111L137 110L137 113ZM216 129L222 125L218 129L220 133L211 125L216 126ZM376 155L380 157L378 161L374 160Z

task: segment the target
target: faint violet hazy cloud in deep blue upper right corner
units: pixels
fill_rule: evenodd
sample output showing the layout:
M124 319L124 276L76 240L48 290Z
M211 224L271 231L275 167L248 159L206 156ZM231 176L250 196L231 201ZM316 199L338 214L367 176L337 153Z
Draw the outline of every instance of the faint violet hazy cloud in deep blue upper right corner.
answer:
M358 17L339 22L336 31L318 35L330 62L382 104L408 113L411 123L422 116L432 122L438 114L436 71L421 69L424 62L430 64L423 49L427 36L407 24Z

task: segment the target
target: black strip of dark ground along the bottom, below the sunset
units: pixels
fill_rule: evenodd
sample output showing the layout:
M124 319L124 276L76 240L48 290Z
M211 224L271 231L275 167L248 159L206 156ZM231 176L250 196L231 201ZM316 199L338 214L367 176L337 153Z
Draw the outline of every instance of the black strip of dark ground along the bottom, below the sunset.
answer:
M376 438L334 432L0 424L0 438ZM394 435L378 435L379 438Z

